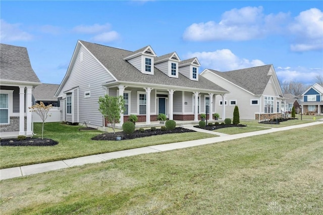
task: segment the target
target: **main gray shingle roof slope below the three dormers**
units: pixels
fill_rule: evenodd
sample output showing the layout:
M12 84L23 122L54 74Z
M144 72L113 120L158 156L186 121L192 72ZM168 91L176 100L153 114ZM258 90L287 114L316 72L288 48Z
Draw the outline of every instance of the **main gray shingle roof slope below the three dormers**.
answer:
M199 75L198 81L191 81L184 75L178 75L178 78L170 78L157 68L154 68L154 75L142 74L138 69L129 62L123 60L129 56L132 51L104 46L100 44L90 43L86 41L80 42L92 53L92 55L109 70L118 81L161 84L179 87L188 87L204 90L216 90L228 92L226 89L214 84L206 78ZM139 49L140 50L140 49Z

